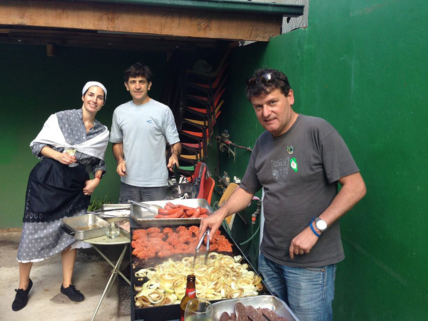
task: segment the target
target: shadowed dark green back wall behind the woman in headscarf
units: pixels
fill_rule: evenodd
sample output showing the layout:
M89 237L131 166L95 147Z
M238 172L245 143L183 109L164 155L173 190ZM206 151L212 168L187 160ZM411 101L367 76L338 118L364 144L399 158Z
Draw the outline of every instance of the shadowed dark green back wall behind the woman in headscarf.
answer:
M124 50L59 48L47 57L42 46L0 45L0 228L21 227L28 175L38 159L29 144L44 121L60 110L82 107L82 88L97 80L108 91L97 114L108 128L113 110L131 99L123 85L123 70L141 61L154 72L151 97L159 99L166 72L164 53ZM107 175L93 194L117 202L119 176L111 153L106 152Z

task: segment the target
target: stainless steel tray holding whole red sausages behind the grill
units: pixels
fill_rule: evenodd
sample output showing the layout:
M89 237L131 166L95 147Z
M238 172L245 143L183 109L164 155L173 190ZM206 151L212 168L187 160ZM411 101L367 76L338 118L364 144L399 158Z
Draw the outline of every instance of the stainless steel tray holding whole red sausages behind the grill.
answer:
M202 207L206 209L206 213L208 215L212 214L212 209L209 206L208 202L203 198L190 198L185 200L166 200L166 201L150 201L144 202L145 204L154 205L154 206L162 206L164 207L168 202L172 204L181 204L189 207ZM183 224L183 223L194 223L198 224L200 218L155 218L156 214L151 213L145 208L142 208L135 204L131 205L131 218L139 225L139 226L158 226L165 225L166 223L169 225ZM174 223L175 222L175 223Z

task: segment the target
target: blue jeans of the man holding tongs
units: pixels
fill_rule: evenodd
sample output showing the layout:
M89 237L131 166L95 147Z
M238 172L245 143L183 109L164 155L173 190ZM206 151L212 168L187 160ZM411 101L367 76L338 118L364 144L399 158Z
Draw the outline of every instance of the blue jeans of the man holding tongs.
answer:
M291 268L260 254L259 271L274 295L285 301L300 321L333 319L336 264L318 268Z

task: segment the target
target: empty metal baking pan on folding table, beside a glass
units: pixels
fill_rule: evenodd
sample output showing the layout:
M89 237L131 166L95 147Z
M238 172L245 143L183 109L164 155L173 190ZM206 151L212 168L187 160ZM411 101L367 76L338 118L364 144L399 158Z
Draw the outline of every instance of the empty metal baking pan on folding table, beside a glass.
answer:
M106 234L106 220L95 214L85 214L62 219L64 227L78 240L98 237Z

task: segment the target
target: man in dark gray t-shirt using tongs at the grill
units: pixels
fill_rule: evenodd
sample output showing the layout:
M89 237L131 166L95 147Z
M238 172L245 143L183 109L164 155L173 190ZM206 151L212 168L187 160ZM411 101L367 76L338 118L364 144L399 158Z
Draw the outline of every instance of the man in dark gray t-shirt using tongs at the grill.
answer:
M202 219L199 233L210 227L213 235L263 188L259 270L266 284L301 321L331 320L336 263L344 258L338 219L366 194L363 178L333 126L293 110L282 72L257 70L247 79L247 98L266 131L240 188Z

